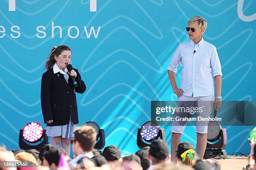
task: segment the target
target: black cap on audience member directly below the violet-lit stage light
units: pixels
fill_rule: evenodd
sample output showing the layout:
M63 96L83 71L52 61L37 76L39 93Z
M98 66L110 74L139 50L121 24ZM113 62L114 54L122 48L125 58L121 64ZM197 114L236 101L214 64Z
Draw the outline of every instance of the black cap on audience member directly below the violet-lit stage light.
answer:
M148 152L154 158L164 160L169 155L169 147L165 140L154 140Z

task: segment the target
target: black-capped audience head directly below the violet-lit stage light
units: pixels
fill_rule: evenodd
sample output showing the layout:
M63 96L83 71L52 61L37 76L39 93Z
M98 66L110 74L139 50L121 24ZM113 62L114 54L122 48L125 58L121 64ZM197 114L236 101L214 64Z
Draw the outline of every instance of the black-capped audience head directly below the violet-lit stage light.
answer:
M148 151L148 160L151 161L151 165L163 163L169 158L169 147L166 141L154 140Z

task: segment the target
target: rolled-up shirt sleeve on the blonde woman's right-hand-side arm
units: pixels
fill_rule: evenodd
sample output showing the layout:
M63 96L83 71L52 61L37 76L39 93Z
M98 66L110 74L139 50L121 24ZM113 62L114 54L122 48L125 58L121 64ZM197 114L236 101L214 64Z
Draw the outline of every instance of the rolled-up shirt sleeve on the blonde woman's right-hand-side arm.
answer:
M216 75L222 76L220 59L215 46L213 47L213 52L211 57L211 67L212 67L212 77L215 77Z

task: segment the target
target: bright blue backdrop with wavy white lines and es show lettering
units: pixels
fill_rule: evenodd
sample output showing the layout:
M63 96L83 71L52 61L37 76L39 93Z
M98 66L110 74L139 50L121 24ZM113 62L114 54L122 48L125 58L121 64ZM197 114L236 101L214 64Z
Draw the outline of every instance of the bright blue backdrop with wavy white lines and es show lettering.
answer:
M44 125L41 75L51 48L68 45L87 85L77 94L79 125L95 121L105 129L106 146L135 153L151 100L177 100L166 68L178 44L189 40L185 27L195 15L207 20L204 39L218 50L223 100L255 100L255 7L254 0L98 0L90 12L86 0L19 0L9 11L8 0L0 0L0 143L18 148L26 123ZM52 36L52 24L61 37L59 28ZM178 85L180 73L181 67ZM171 127L164 128L170 144ZM228 154L249 154L253 127L225 128ZM185 140L196 143L195 127L185 129Z

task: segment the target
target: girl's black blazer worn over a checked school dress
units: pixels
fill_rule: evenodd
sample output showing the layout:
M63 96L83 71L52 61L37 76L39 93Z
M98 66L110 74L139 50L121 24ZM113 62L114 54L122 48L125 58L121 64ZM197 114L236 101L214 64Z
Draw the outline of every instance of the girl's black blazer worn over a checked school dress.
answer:
M82 81L77 69L73 69L77 72L77 78L75 78L77 87L75 88L75 92L83 93L86 90L84 81ZM44 123L47 120L53 120L47 126L67 125L71 111L74 124L78 123L75 92L70 76L67 83L63 74L60 72L54 74L53 68L43 74L41 81L41 107Z

